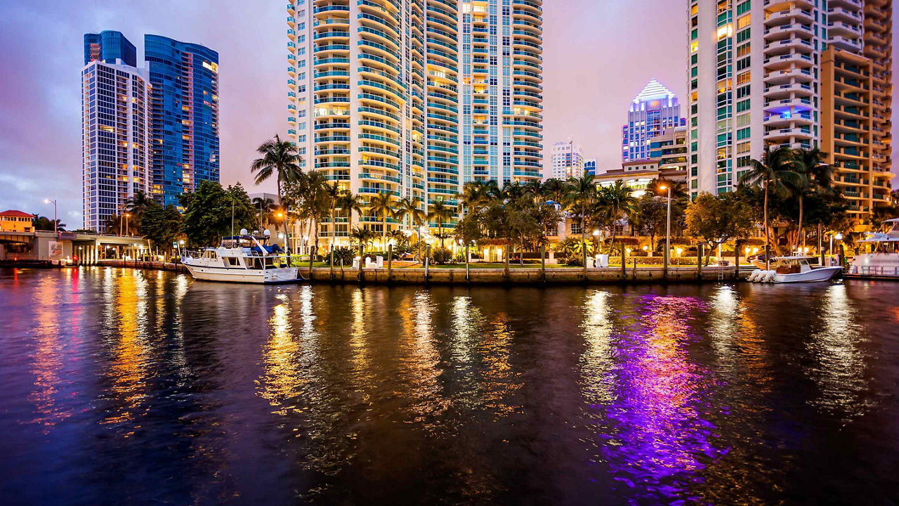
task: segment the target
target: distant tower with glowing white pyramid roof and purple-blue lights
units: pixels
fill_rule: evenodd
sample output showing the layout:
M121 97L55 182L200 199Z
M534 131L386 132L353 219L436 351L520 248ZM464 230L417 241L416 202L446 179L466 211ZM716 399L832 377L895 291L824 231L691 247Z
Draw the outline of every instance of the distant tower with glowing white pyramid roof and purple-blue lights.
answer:
M621 161L649 158L649 140L683 124L677 96L655 79L650 80L634 97L628 123L621 128Z

